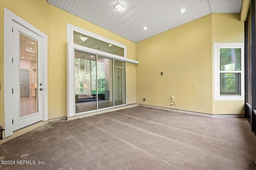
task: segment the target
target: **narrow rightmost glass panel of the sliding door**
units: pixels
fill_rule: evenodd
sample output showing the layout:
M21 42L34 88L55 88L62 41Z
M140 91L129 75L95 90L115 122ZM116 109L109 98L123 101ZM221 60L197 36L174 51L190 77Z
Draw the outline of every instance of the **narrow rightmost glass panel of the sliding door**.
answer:
M114 106L126 104L125 62L114 60Z

